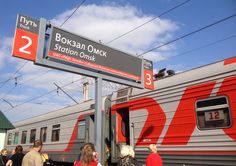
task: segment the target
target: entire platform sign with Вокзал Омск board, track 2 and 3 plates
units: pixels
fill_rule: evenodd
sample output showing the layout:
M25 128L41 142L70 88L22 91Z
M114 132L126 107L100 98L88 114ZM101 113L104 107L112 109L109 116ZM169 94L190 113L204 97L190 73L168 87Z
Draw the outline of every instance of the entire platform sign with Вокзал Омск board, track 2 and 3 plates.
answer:
M38 21L17 15L12 55L36 65L127 86L154 87L152 68L148 67L151 62L144 67L142 58L55 27L43 18Z

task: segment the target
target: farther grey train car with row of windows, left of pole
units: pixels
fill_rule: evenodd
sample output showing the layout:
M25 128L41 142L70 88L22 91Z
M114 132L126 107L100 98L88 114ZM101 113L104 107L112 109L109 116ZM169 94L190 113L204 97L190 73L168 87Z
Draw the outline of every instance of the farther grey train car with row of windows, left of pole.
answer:
M7 132L5 142L9 152L18 144L27 152L34 140L40 139L42 153L47 153L54 164L71 165L81 147L94 142L94 100L16 122L14 126Z

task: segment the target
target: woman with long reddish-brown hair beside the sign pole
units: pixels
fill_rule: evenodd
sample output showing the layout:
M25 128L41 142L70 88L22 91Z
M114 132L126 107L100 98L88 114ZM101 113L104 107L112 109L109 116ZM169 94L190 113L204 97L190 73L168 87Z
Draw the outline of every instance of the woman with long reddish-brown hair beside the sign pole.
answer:
M74 166L98 166L99 156L92 143L86 143L81 152L80 160L74 162Z

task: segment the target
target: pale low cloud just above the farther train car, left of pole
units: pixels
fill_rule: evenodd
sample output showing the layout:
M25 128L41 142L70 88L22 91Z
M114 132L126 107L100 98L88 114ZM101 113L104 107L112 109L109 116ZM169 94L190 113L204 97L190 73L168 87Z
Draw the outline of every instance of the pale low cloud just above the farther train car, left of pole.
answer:
M1 103L1 109L4 110L4 114L7 115L9 120L19 121L75 104L75 102L62 92L57 93L54 91L53 93L37 99L35 97L40 95L39 91L32 94L33 96L27 95L28 93L25 93L25 96L22 95L20 97L14 95L8 96L8 98L17 100L9 101L14 108L11 108L5 102ZM30 100L32 98L35 98L35 100ZM75 98L75 100L81 102L81 99Z

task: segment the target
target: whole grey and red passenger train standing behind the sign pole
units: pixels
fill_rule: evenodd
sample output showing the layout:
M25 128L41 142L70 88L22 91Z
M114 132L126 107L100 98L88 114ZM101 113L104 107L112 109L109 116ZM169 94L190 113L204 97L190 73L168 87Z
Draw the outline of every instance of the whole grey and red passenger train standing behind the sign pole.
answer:
M104 97L104 165L117 163L123 144L134 147L143 165L149 144L157 145L164 165L236 165L236 57L158 78L154 85L152 91L130 87ZM41 138L53 160L73 162L82 144L94 141L94 101L14 125L6 148L29 147Z

